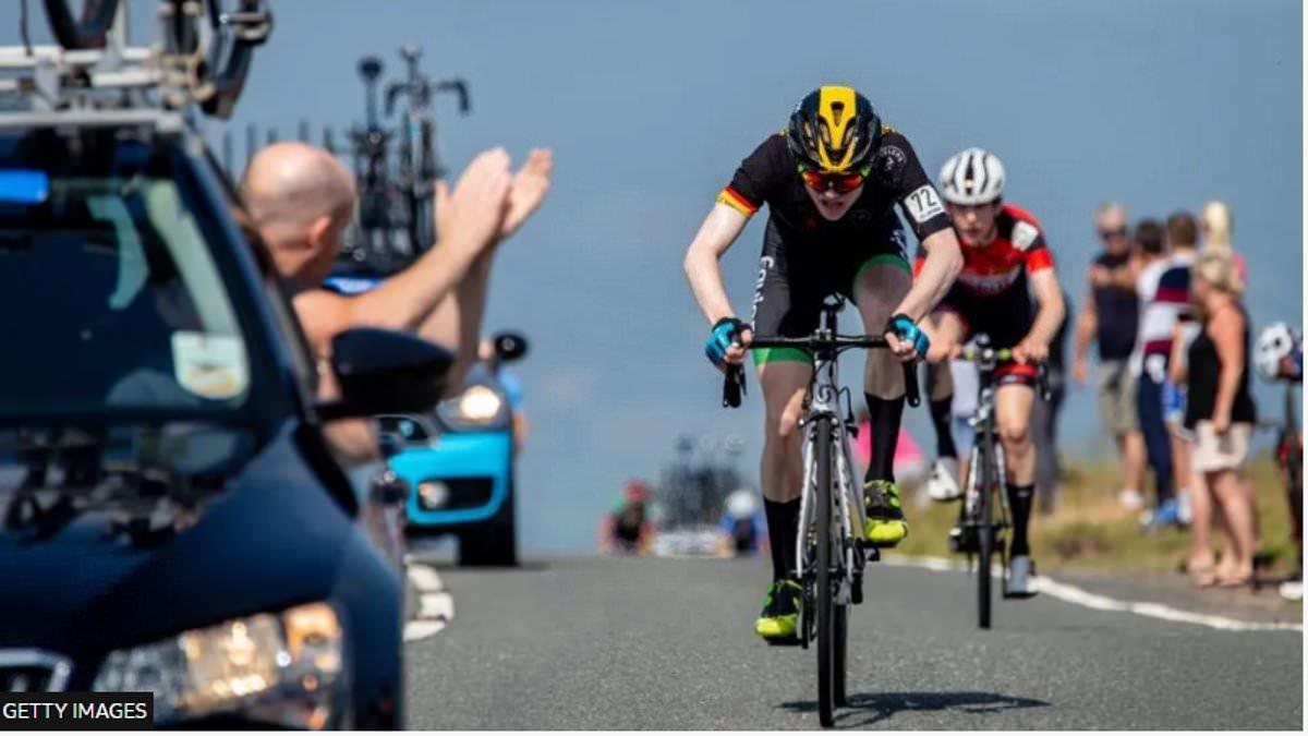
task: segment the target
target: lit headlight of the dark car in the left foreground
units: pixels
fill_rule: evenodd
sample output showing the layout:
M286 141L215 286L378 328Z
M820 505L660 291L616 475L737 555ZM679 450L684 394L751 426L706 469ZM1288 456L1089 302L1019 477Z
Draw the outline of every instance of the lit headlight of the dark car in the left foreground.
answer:
M326 728L343 710L344 631L315 602L260 613L110 652L98 691L150 691L154 722L238 712L293 728ZM344 682L341 682L344 685Z

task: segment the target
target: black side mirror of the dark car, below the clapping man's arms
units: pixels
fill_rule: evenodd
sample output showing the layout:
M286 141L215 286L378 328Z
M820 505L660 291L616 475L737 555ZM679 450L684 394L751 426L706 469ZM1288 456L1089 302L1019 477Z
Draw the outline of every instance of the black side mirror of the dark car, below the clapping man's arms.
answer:
M332 338L340 401L318 406L323 420L425 413L441 401L454 355L394 330L356 327Z

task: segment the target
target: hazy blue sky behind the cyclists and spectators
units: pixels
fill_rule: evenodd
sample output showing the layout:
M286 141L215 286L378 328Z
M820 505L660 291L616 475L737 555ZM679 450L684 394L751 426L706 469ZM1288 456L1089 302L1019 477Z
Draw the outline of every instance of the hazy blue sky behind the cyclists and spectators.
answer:
M152 7L133 1L137 39ZM752 474L760 397L719 407L680 263L739 160L820 84L865 92L933 175L960 148L995 152L1006 196L1045 225L1078 305L1096 203L1121 199L1135 217L1220 198L1248 257L1254 322L1300 321L1303 10L1292 0L828 1L821 16L774 0L273 8L232 123L238 140L249 122L288 138L302 118L340 140L362 117L358 58L379 54L399 75L395 50L416 43L429 73L471 85L470 117L437 102L451 168L489 145L517 158L555 151L555 189L505 244L488 312L488 327L532 339L519 368L534 426L521 465L532 549L589 547L621 481L654 475L681 432L746 437ZM14 5L0 10L0 28L16 17ZM39 22L33 35L48 37ZM723 261L742 312L761 232L756 217ZM1279 411L1267 386L1258 396ZM927 439L925 415L908 422ZM1073 392L1062 430L1067 453L1104 451L1091 389Z

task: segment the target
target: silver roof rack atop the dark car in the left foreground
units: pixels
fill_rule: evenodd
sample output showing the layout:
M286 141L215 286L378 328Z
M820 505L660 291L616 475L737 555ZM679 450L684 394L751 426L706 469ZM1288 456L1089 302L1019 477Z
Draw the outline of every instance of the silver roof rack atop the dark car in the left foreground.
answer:
M127 1L99 48L0 47L0 128L148 126L179 132L199 110L229 117L251 48L267 39L272 20L263 8L215 16L221 26L209 28L212 1L161 0L157 39L144 47L128 46ZM177 13L187 13L195 31L187 52L177 50L182 43L169 30L178 28ZM220 71L212 71L216 62Z

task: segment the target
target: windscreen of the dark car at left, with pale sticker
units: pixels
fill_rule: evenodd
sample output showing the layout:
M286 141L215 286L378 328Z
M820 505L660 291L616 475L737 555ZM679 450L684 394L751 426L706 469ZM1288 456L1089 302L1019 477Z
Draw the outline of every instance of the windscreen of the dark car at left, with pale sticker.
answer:
M107 132L0 135L0 173L48 181L0 196L0 415L246 399L246 344L171 156Z

